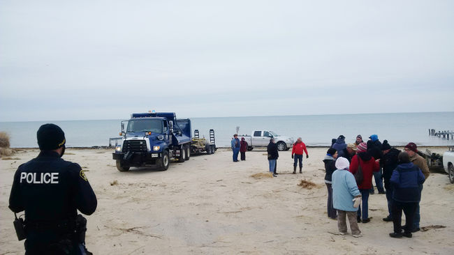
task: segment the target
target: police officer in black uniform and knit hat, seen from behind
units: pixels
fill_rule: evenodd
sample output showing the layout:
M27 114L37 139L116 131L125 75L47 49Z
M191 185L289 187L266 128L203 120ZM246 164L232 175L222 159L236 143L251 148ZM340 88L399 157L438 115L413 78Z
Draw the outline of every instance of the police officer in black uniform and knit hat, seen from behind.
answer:
M78 210L91 215L96 195L80 166L61 159L66 139L59 126L42 125L37 138L41 153L17 169L9 201L13 212L25 211L25 254L91 254Z

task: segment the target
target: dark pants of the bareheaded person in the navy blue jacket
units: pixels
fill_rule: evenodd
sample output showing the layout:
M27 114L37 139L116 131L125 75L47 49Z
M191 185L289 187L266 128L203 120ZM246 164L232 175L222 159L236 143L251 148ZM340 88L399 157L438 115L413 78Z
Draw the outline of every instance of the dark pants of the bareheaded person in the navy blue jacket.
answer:
M394 233L401 233L402 231L402 210L405 214L405 233L411 233L413 231L413 216L415 215L416 206L418 202L402 203L400 201L394 201L393 203L393 224Z

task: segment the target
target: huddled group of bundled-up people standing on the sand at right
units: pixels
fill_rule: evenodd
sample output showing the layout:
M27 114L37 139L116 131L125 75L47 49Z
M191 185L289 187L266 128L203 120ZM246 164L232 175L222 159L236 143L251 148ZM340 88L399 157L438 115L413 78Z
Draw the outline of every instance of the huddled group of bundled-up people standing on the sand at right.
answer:
M359 222L370 222L368 199L369 194L374 194L372 177L379 194L386 194L388 215L383 221L393 222L390 236L411 238L412 233L420 230L419 201L430 171L427 162L418 155L416 144L407 144L401 152L386 140L382 144L376 134L367 143L358 135L352 144L345 144L345 137L340 135L332 139L323 162L328 217L337 219L341 235L347 231L346 217L354 237L361 236ZM402 210L406 219L403 232Z

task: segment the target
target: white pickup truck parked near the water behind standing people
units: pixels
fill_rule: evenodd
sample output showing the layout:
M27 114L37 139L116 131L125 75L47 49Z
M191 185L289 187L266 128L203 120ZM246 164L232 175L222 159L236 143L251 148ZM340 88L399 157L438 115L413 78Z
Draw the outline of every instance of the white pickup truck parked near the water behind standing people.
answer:
M281 136L271 130L254 130L251 135L241 134L238 137L240 139L244 137L248 150L252 150L254 147L268 146L271 138L274 138L276 141L278 150L288 150L292 148L294 142L292 137Z

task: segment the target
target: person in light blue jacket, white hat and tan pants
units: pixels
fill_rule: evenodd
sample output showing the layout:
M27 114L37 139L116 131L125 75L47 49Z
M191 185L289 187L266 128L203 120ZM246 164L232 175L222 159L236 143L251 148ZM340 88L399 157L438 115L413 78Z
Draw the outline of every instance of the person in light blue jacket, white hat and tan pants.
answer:
M356 185L353 173L348 171L349 160L345 157L338 157L336 160L337 170L332 173L332 202L334 208L337 209L337 227L339 234L347 233L346 219L347 216L350 222L351 234L355 238L361 236L361 231L356 221L357 207L353 205L353 199L358 199L361 194Z

